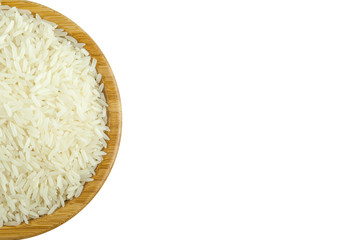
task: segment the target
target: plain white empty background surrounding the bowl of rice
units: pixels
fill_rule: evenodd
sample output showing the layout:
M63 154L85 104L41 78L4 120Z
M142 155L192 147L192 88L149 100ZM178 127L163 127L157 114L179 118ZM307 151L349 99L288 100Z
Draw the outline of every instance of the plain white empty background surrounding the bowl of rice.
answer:
M48 239L360 238L360 3L37 0L117 77L123 136Z

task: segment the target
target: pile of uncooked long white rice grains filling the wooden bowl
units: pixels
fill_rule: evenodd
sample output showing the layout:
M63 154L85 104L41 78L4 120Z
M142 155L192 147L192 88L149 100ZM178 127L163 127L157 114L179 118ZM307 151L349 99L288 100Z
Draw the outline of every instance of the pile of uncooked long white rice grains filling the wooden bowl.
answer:
M0 227L78 197L105 155L104 85L83 47L38 15L0 6Z

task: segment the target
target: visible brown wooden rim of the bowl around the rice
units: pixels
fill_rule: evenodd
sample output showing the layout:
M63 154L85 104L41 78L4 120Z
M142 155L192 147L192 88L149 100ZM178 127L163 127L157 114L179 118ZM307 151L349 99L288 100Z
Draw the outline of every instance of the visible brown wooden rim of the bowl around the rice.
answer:
M65 207L59 208L51 215L45 215L39 219L30 220L29 224L23 223L16 227L0 228L0 240L23 239L47 232L65 223L80 212L97 194L108 177L116 159L121 138L122 111L120 94L110 65L100 48L84 30L69 18L43 5L30 1L18 0L0 0L0 2L2 5L27 9L34 14L38 13L43 19L56 23L59 28L64 29L79 42L85 43L85 48L90 53L91 57L96 58L98 61L96 68L103 76L102 81L105 86L105 97L109 104L108 126L110 128L110 140L108 141L108 147L104 150L107 155L104 156L104 160L96 168L96 174L93 176L94 181L85 184L84 190L78 198L67 201Z

